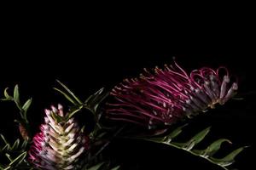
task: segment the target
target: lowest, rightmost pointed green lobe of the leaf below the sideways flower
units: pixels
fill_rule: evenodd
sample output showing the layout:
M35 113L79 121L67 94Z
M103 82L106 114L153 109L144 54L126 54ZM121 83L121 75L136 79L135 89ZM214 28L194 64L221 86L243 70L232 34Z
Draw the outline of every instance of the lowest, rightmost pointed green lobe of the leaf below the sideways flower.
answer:
M235 157L247 147L241 147L234 151L232 151L228 156L224 156L224 158L218 159L218 158L210 158L212 161L217 163L219 166L227 167L235 162Z

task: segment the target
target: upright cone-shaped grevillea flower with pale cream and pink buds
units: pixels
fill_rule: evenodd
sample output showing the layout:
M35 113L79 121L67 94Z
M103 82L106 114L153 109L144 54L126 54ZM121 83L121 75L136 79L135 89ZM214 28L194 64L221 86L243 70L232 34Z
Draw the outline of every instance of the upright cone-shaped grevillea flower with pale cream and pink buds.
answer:
M41 132L33 138L29 160L42 169L76 169L76 163L86 150L89 138L80 132L78 123L70 118L57 122L55 116L64 117L61 105L45 110ZM54 116L55 115L55 116Z

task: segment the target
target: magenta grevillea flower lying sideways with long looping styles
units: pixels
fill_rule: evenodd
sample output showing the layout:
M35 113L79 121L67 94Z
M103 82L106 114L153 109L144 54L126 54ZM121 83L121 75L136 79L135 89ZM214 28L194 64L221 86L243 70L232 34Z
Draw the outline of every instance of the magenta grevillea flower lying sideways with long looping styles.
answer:
M139 78L125 79L114 87L107 114L113 120L152 128L197 115L216 104L224 105L237 88L225 67L216 71L203 67L188 74L174 61L164 69L144 69Z

